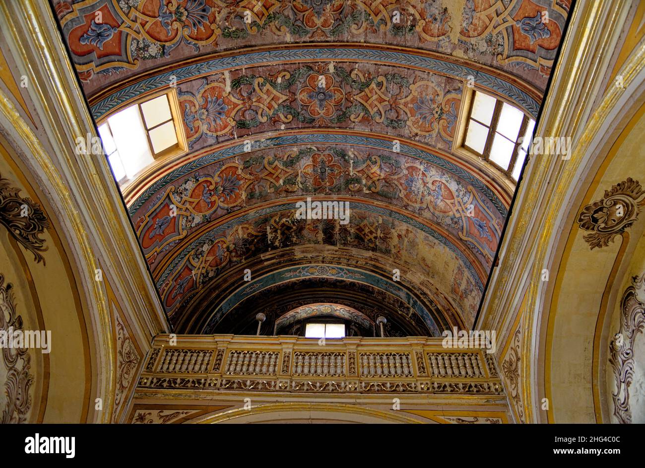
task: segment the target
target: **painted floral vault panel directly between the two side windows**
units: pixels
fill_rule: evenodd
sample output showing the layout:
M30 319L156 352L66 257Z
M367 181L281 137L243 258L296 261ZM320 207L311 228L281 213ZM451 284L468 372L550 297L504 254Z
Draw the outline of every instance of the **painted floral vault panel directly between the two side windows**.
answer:
M190 149L306 125L379 130L450 148L461 105L461 80L404 75L392 66L350 66L335 66L331 72L321 63L276 66L263 76L252 68L179 84Z

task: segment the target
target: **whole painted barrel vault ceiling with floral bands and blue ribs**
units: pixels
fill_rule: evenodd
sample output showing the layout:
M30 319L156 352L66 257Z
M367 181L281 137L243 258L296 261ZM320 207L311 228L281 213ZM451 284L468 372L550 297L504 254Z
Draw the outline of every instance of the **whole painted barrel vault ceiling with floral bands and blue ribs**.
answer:
M333 303L430 336L473 325L512 198L455 151L467 86L537 117L569 3L52 0L97 121L176 86L188 153L123 193L175 331Z

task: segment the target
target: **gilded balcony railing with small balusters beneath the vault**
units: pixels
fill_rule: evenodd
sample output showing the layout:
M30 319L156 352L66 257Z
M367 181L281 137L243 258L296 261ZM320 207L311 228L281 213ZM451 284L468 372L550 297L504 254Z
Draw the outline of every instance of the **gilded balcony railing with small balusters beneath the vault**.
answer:
M139 389L263 392L503 393L484 349L441 338L157 336Z

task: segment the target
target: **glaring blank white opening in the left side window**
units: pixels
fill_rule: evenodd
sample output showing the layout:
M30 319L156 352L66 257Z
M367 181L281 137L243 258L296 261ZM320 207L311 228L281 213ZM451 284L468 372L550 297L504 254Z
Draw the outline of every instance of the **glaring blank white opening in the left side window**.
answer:
M134 105L117 112L108 118L108 123L110 123L123 168L128 179L132 179L144 167L154 162L139 107Z

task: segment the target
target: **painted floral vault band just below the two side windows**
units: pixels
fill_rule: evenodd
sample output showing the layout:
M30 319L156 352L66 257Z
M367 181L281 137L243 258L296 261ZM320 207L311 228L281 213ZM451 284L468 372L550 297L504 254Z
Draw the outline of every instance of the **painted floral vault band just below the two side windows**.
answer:
M482 265L490 263L499 241L503 219L489 202L482 202L473 188L450 173L412 158L350 153L335 146L286 152L267 150L264 156L250 153L241 160L238 158L213 163L188 174L181 183L171 185L152 199L147 214L138 218L134 215L141 245L153 271L163 263L173 245L206 223L280 196L339 194L355 196L357 200L384 201L414 212L455 238L466 240L468 249L480 258ZM175 216L170 214L172 205ZM267 241L274 248L281 247L297 229L297 223L290 219L281 219L278 224L267 222L270 226ZM319 241L325 235L327 228L323 225L308 226L312 241ZM352 232L366 245L373 246L379 238L378 229L372 221L361 221L352 227ZM266 234L266 226L257 232L255 227L233 232L228 238L228 247L224 249L222 245L210 257L221 262L227 261L226 252L233 261L244 257L242 252L261 247L261 244L253 245L258 232ZM186 289L192 284L184 276L181 280L181 283L175 280L173 287Z

